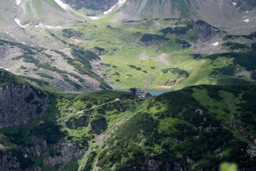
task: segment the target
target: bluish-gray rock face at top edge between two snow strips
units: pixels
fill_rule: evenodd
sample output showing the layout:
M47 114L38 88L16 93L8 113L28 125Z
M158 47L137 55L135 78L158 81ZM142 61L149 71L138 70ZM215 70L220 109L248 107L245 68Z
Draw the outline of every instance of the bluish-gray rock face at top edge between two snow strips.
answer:
M117 4L118 0L62 0L62 2L71 5L75 10L86 7L92 10L107 11L111 6Z

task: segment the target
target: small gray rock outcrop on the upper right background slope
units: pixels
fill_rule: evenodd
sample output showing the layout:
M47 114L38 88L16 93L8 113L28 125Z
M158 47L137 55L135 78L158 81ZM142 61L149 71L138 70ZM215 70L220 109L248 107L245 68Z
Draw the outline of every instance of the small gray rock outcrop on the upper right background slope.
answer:
M197 21L194 25L197 36L203 42L209 40L213 36L213 28L210 24L204 21Z

